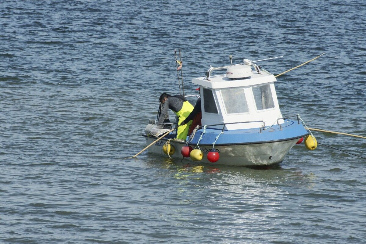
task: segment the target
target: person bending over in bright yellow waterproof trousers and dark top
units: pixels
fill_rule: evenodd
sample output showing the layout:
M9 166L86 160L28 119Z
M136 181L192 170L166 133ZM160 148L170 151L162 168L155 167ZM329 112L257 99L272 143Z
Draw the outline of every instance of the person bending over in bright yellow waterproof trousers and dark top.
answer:
M178 117L178 125L182 124L182 122L188 117L188 115L192 112L193 106L190 104L187 99L182 95L174 95L171 96L168 93L162 93L160 95L159 101L163 104L163 109L161 110L161 114L158 119L158 124L162 124L167 116L168 109L173 110L173 112ZM188 123L183 124L178 127L177 139L186 140L188 129L192 124L192 120L188 121Z

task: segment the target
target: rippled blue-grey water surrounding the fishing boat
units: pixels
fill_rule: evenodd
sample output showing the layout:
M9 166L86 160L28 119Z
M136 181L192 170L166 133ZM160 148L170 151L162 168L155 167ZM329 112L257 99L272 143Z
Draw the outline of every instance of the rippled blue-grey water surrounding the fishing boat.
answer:
M277 168L142 153L157 98L209 65L279 74L283 115L366 135L365 1L0 2L0 243L365 243L366 160L295 146ZM365 139L314 132L366 157Z

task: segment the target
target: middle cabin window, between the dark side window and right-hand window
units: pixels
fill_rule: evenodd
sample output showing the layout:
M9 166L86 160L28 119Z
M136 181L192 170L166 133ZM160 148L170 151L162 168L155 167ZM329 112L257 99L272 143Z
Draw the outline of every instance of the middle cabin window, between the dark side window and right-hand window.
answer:
M221 95L228 114L249 112L243 88L221 90Z

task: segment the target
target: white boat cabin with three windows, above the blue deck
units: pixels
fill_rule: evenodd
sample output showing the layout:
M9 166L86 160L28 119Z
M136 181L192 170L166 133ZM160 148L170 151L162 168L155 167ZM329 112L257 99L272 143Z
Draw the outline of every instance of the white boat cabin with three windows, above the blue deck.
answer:
M252 70L254 68L254 71ZM213 70L227 68L226 74L211 76ZM277 101L273 74L250 60L244 64L211 67L204 77L193 78L200 86L202 125L264 121L265 127L277 124L281 112ZM281 119L279 123L284 121ZM263 122L227 124L226 129L248 129L264 126ZM223 125L215 128L223 128Z

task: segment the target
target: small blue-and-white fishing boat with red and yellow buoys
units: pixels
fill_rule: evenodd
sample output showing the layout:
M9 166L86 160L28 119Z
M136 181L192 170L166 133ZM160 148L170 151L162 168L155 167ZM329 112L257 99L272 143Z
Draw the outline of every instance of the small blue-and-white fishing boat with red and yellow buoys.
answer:
M174 140L176 123L150 119L142 134L147 144L171 131L154 142L150 152L208 164L265 166L281 163L295 143L309 137L298 114L281 114L273 74L261 70L257 61L232 64L231 55L229 59L230 65L210 66L205 76L192 79L200 95L186 98L201 98L202 126L180 141ZM220 70L226 72L212 75Z

